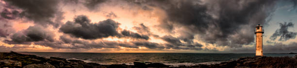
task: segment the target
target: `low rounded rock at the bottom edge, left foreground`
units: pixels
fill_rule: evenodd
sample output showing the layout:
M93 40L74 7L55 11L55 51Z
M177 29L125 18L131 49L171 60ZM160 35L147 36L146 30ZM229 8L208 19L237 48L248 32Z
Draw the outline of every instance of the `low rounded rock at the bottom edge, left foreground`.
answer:
M55 68L55 67L50 65L49 63L45 63L45 64L30 64L30 65L24 66L23 68Z

